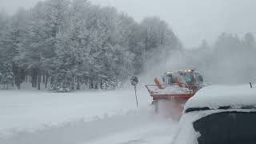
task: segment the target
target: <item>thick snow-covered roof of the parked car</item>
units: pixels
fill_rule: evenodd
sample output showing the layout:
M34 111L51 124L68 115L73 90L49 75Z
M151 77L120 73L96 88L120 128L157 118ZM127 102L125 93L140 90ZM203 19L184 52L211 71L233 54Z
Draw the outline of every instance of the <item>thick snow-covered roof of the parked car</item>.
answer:
M185 113L197 110L256 109L256 89L248 86L206 86L190 98Z

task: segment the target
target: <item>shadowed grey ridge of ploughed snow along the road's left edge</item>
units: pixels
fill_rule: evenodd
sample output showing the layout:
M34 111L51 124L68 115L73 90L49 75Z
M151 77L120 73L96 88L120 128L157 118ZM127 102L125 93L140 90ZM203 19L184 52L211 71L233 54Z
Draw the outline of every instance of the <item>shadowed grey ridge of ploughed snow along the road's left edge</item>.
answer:
M10 138L0 139L4 144L77 144L88 143L100 138L110 137L122 131L150 125L155 119L149 110L133 111L125 115L110 118L96 118L92 122L68 122L61 126L49 126L34 132L22 131ZM123 144L143 143L134 139Z

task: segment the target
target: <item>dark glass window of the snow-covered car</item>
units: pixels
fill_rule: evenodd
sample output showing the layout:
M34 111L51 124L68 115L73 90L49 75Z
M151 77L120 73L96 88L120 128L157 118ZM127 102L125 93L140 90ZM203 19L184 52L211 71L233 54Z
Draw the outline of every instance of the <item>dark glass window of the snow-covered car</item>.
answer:
M198 144L256 143L256 112L224 112L211 114L194 122L201 136Z

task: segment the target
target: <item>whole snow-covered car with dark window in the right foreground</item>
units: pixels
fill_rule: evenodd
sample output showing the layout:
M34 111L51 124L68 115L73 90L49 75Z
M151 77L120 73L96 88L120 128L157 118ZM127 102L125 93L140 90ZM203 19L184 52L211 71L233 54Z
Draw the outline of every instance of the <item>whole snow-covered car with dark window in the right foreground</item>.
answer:
M206 86L186 102L172 144L212 143L256 143L256 89Z

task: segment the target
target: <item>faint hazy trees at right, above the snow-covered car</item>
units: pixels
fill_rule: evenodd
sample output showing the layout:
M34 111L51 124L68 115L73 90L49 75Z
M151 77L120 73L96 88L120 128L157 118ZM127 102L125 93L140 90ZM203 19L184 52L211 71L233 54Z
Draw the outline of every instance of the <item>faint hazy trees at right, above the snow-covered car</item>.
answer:
M256 82L256 42L254 34L222 33L214 44L186 50L186 66L201 70L209 82L241 84Z

